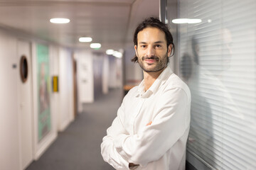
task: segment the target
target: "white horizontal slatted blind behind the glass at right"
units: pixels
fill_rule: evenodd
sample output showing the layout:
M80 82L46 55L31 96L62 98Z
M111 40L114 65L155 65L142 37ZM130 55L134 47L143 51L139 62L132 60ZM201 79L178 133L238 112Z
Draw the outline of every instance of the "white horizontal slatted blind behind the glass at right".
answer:
M178 18L202 20L178 25L188 152L214 169L256 169L256 1L180 0Z

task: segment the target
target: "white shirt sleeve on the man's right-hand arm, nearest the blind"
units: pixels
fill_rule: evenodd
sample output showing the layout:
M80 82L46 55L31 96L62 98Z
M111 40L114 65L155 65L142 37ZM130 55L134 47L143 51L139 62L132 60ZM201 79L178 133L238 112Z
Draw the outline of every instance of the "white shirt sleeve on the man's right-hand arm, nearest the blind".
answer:
M157 113L151 125L145 125L135 135L119 134L119 137L114 139L117 152L127 162L142 167L160 159L189 128L188 102L190 99L181 88L165 91L156 103Z

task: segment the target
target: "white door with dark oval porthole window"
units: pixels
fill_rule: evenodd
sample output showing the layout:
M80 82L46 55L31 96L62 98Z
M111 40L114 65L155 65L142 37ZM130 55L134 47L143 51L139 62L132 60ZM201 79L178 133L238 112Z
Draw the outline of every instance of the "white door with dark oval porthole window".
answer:
M18 72L19 80L19 125L21 166L25 169L33 160L32 140L32 69L31 43L18 40Z

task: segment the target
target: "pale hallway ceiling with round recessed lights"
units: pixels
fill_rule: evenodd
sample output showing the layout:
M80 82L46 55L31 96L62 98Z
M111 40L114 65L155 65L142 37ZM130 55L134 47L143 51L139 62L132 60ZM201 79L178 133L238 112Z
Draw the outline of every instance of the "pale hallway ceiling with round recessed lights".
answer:
M102 52L133 45L134 29L148 16L159 16L159 0L0 0L1 28L72 48L89 49L90 42L78 41L88 36Z

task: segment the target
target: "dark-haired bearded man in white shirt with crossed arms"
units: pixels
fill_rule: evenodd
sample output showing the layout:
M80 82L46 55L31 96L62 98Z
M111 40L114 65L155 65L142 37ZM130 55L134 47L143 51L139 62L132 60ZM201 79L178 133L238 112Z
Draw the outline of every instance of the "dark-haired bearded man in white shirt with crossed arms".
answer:
M167 66L174 49L168 27L147 18L134 33L144 80L124 97L101 145L115 169L185 169L191 94Z

